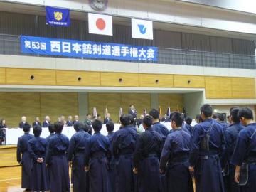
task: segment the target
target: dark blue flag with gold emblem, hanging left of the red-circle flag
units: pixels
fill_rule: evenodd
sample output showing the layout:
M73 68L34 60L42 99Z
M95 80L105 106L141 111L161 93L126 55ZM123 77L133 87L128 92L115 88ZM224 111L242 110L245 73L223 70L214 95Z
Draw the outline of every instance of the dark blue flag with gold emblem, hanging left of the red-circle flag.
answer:
M50 26L70 26L69 9L46 6L46 23Z

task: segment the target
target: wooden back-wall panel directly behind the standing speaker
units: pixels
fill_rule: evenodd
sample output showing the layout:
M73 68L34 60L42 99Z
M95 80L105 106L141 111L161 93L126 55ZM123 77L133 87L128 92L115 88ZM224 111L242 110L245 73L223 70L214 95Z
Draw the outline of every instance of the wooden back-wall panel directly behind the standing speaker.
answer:
M122 93L121 106L124 114L128 113L129 105L133 104L138 112L138 117L143 114L143 110L147 112L151 110L151 98L148 93Z

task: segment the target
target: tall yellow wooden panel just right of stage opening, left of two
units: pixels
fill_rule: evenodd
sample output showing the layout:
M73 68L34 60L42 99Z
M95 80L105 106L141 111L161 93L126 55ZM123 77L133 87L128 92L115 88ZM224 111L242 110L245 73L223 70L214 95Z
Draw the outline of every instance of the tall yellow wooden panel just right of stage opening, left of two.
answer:
M232 98L232 78L206 77L207 99L230 99Z

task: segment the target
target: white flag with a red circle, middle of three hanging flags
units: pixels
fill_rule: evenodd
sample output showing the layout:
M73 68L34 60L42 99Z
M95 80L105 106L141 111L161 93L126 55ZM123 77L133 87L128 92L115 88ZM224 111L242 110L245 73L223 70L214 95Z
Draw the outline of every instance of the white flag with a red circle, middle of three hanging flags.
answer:
M89 33L113 36L112 16L88 14Z

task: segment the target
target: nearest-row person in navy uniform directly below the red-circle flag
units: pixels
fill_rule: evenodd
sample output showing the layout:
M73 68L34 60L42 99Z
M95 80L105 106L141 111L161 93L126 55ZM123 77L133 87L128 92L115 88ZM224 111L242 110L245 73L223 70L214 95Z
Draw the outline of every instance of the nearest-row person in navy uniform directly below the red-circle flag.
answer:
M92 122L95 134L88 139L85 154L85 171L89 171L90 192L110 192L109 160L111 159L110 141L100 134L102 122Z

